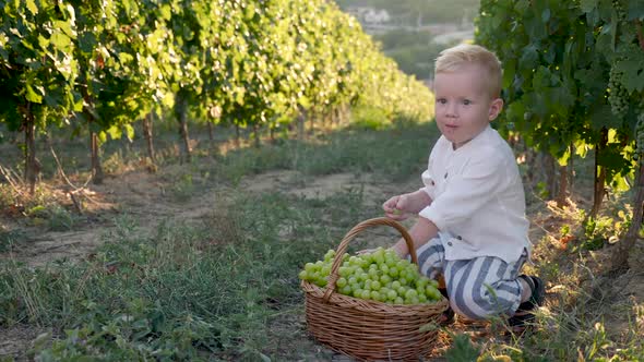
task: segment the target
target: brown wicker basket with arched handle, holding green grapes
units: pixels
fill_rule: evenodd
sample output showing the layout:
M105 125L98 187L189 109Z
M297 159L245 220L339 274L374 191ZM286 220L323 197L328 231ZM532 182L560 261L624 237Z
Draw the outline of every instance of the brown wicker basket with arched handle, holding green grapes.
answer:
M360 231L390 226L397 229L409 248L412 261L418 264L412 237L405 228L389 218L374 218L355 226L344 237L336 251L329 283L320 288L302 281L309 331L319 342L361 361L418 361L427 355L438 336L434 328L421 328L438 323L448 301L431 304L385 304L335 292L337 270L347 245Z

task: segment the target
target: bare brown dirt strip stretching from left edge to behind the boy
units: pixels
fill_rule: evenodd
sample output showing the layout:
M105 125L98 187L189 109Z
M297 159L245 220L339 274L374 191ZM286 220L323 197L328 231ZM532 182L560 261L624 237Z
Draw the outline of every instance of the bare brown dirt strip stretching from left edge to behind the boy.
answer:
M86 191L84 212L88 221L72 231L44 231L39 227L24 227L7 220L9 230L20 230L21 242L10 252L0 253L0 260L14 260L31 266L43 266L47 262L69 258L77 260L105 242L115 222L122 219L135 222L142 233L154 230L164 220L180 222L198 221L224 205L232 189L219 186L216 190L199 191L187 200L178 202L168 181L176 170L153 174L144 170L131 171L118 178L107 178L100 185ZM415 188L415 185L403 185ZM296 171L271 171L246 178L238 190L252 193L284 192L306 197L327 197L348 189L362 191L366 202L380 204L387 195L398 192L398 185L384 183L371 176L356 177L351 173L336 173L306 178Z

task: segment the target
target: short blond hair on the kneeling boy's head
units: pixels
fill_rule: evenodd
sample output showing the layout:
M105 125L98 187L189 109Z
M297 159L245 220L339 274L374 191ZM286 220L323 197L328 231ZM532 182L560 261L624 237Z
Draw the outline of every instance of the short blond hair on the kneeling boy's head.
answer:
M493 52L481 46L461 44L441 51L436 59L434 74L455 72L468 64L482 68L486 73L488 89L492 98L498 98L501 94L503 76L501 61Z

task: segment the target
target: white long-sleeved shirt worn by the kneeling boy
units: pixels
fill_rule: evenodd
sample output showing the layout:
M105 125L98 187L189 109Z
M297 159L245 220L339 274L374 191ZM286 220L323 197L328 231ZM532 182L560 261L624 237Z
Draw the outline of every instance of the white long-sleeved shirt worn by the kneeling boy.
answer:
M448 261L497 256L511 263L524 249L529 253L518 167L508 143L491 126L457 149L441 136L422 183L432 202L418 215L441 231Z

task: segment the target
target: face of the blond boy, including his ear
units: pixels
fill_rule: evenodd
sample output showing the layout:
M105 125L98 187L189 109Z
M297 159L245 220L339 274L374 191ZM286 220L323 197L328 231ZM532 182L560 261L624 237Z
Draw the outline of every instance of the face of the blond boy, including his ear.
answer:
M458 148L482 132L503 108L490 96L480 65L464 65L434 77L436 120L441 133Z

